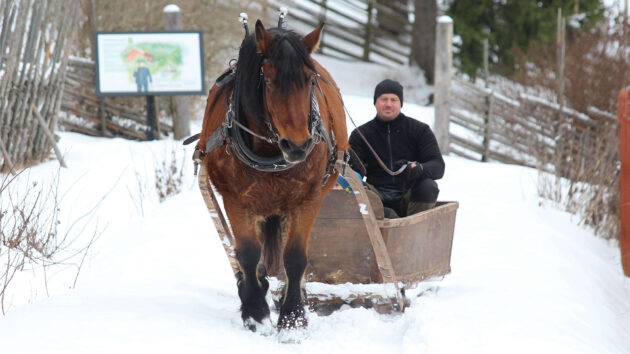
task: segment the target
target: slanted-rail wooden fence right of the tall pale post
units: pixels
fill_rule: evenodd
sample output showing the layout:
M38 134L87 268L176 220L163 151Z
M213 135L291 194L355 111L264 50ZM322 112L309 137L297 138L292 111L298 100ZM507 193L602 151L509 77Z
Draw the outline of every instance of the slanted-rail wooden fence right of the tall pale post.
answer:
M616 117L588 114L530 95L511 99L453 77L450 151L479 161L495 160L574 176L601 160L617 129Z

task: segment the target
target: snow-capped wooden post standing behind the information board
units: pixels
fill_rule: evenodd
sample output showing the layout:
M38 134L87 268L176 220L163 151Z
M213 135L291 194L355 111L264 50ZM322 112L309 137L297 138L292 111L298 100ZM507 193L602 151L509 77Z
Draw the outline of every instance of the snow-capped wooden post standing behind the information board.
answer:
M166 30L181 30L182 17L177 5L166 5L164 7L164 24ZM202 78L203 80L203 78ZM186 138L190 135L190 97L175 96L171 98L173 107L173 137L175 140ZM158 119L158 118L156 118ZM158 133L159 134L159 133Z

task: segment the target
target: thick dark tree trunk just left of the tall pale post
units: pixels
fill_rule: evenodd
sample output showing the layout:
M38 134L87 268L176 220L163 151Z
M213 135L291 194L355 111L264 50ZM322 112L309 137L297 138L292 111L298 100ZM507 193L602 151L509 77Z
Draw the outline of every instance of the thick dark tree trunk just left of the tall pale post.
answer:
M411 44L411 63L424 70L428 84L433 84L435 71L436 0L414 0L415 17Z

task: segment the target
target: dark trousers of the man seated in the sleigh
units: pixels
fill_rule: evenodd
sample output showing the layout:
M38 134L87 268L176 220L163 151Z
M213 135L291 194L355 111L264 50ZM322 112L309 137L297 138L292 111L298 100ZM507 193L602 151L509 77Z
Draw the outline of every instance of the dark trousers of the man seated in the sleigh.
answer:
M383 201L383 206L393 209L399 216L407 215L409 203L435 203L440 189L437 183L430 179L417 179L407 185L405 195L402 190L388 187L368 185Z

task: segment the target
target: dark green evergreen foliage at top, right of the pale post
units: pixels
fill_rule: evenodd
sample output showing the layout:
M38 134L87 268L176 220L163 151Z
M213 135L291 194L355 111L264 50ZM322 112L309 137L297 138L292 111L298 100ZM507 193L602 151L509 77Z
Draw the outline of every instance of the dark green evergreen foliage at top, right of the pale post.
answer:
M515 49L527 52L532 41L555 39L558 8L580 27L595 24L604 10L601 0L453 0L447 14L459 37L454 50L459 70L476 77L483 66L484 38L490 43L490 64L513 69Z

